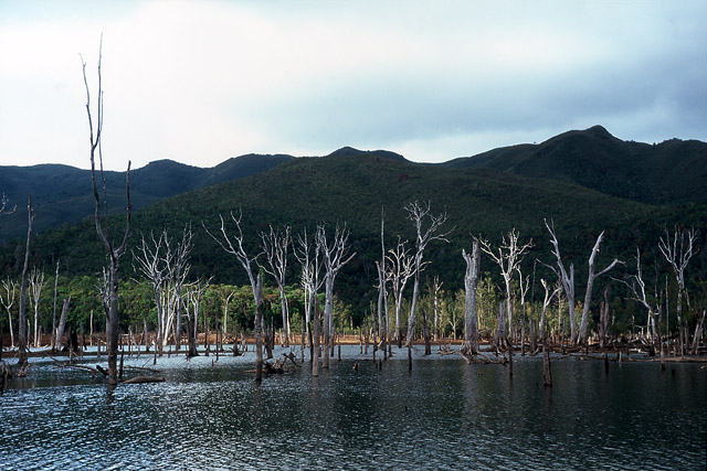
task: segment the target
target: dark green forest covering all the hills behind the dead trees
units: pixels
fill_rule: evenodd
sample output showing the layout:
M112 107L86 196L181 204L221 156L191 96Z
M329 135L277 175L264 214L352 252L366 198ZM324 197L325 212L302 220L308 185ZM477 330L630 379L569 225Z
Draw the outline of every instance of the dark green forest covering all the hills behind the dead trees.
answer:
M251 157L250 161L257 161L257 158ZM314 234L319 224L331 228L346 225L351 232L351 251L357 255L342 269L335 290L337 319L341 328L351 328L367 322L371 302L378 297L374 263L381 250L381 211L387 248L392 248L399 236L413 243L414 227L403 205L415 200L430 202L435 214L445 212L444 228L453 229L449 243L435 242L428 248L425 260L430 264L422 276L423 297L431 296L426 287L435 277L443 283L445 334L460 334L453 318L463 317L463 293L460 297L460 292L464 286L464 260L461 253L463 248L471 248L469 234L488 239L493 246L497 246L502 235L511 228L520 233L521 242L532 239L532 248L521 268L532 280L527 301L531 310L538 309L542 297L540 278L550 282L557 279L544 265L553 264L546 220L555 225L564 261L574 265L578 301L583 299L588 257L597 237L605 231L597 266L601 269L616 257L625 265L598 278L593 296L597 307L592 306L592 317L598 319L599 300L609 287L615 331L635 330L646 323L645 311L627 299L621 282L612 279L635 274L636 247L641 250L643 275L651 287L651 296L665 289L667 282L668 301L674 302L674 276L658 250L658 240L666 236L666 231L673 236L676 228L695 229L698 251L686 270L687 321L695 322L698 313L707 308L707 193L704 185L707 181L707 144L704 142L625 142L605 129L594 127L570 131L540 144L496 149L442 164L414 163L393 152L352 148L326 157L260 158L267 163L253 164L255 170L247 176L233 176L234 173L223 169L220 176L213 176L219 175L213 169L208 176L209 172L202 169L189 170L167 162L159 163L162 168L157 172L159 179L147 173L158 163L131 174L134 182L141 179L139 184L143 186L138 188L143 190L133 191L137 211L133 214L129 246L137 247L140 237L150 232L167 231L178 237L190 226L193 249L189 279L212 277L202 307L205 319L210 319L208 322L215 322L222 315L224 293L236 291L242 296L231 299L229 322L235 321L246 329L252 325L250 287L243 288L247 285L245 274L203 228L218 232L219 215L224 216L228 225L231 212L242 212L245 246L252 255L260 251L258 234L271 225L292 226L295 237L305 228ZM173 170L173 180L165 168ZM18 193L28 186L8 183L4 169L1 183L17 208L11 215L2 215L0 222L2 227L12 226L3 229L3 234L15 237L6 237L0 246L0 275L7 280L18 280L24 239L17 235L27 231L27 194ZM50 168L41 170L52 171ZM141 176L140 172L144 172ZM32 176L28 173L23 178L31 180ZM89 174L76 173L66 179L74 188L82 186L80 179L86 179L85 194L80 192L62 199L67 190L56 183L48 189L45 197L62 201L60 206L65 208L73 207L71 199L81 201L77 200L76 205L88 202L86 214L89 214ZM125 217L124 179L119 173L108 179L108 204L115 213L110 227L116 231L123 229ZM210 184L212 182L215 184ZM151 188L151 195L146 195L148 188ZM10 192L7 189L19 190ZM43 269L48 278L41 301L43 330L51 330L53 276L57 261L59 297L63 299L71 293L72 321L88 329L91 311L94 315L102 312L97 285L105 264L93 220L70 221L46 203L36 204L35 212L40 229L32 240L31 265ZM302 313L304 293L298 282L299 267L294 257L291 258L287 285L293 329L298 329L297 317ZM141 325L144 318L154 319L155 308L146 281L134 269L131 254L123 257L120 272L123 328ZM490 329L495 306L504 296L502 280L498 267L488 257L482 259L482 287L486 290L483 299L487 304L483 304L481 315L487 318L486 327ZM267 277L265 281L266 297L273 299L266 303L270 310L266 317L277 325L279 304L275 283ZM0 317L0 327L3 333L8 332L7 312Z

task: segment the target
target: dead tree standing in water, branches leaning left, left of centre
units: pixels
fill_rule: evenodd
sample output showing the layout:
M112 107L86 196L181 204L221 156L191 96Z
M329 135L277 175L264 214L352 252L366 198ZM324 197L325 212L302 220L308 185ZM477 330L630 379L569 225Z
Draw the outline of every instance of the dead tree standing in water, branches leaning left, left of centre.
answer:
M211 232L203 225L203 228L211 236L212 239L219 244L219 246L235 257L235 259L241 264L247 278L251 282L251 289L253 290L253 301L255 302L255 325L254 325L254 334L255 334L255 381L260 382L263 377L263 281L260 274L256 276L253 274L253 265L256 264L257 257L250 257L245 251L245 247L243 246L243 229L241 227L241 218L243 217L243 213L239 212L239 216L236 217L233 212L231 212L231 221L235 224L235 231L233 235L229 235L225 222L223 221L223 216L219 214L219 218L221 220L221 237L215 237Z

